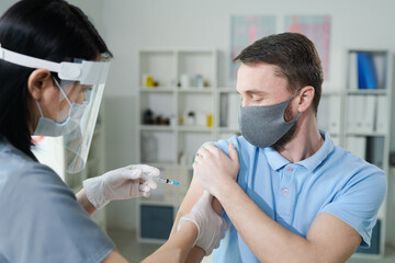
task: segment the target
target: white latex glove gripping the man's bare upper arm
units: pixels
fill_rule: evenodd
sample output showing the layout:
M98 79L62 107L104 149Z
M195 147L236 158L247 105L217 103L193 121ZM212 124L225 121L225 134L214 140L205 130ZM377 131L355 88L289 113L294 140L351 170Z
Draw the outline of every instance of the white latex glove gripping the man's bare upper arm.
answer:
M181 217L177 226L177 230L179 230L187 220L193 221L198 226L199 233L193 245L202 248L205 255L210 255L214 249L219 247L225 231L229 229L227 222L213 210L212 199L213 196L204 191L203 196L188 215Z

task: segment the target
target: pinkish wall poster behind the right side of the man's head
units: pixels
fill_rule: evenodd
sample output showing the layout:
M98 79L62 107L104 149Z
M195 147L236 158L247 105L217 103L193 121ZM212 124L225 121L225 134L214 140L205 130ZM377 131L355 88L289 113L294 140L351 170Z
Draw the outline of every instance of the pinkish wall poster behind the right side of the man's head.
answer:
M329 79L330 15L287 15L285 31L307 36L316 46L323 62L324 79Z

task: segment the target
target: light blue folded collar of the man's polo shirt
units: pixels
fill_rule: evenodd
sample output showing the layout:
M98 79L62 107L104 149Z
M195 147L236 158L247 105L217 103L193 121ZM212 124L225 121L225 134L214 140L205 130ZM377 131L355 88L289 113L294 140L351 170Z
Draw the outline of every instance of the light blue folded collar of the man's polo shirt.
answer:
M314 171L314 169L316 169L327 158L335 147L329 133L320 129L319 134L325 138L323 146L309 158L297 162L298 164L305 167L309 172ZM263 150L268 158L268 162L273 170L279 170L290 163L287 159L281 156L272 147L267 147Z

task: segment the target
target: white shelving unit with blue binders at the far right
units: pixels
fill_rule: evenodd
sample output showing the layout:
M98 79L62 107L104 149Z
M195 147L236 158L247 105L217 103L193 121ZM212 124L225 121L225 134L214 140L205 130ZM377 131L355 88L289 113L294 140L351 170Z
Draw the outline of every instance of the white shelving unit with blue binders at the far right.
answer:
M361 54L370 58L370 67L361 59ZM393 55L388 50L349 49L346 57L348 78L343 93L343 147L375 164L388 176ZM380 259L384 255L386 214L385 199L377 216L380 222L373 230L377 240L372 240L370 250L359 249L354 256Z

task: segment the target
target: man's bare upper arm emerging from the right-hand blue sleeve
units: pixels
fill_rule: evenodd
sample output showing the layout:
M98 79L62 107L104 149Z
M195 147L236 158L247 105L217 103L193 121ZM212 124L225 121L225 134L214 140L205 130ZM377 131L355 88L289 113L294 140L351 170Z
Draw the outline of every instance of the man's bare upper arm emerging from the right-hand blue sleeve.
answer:
M320 262L346 262L362 241L356 229L328 213L318 214L306 239Z

